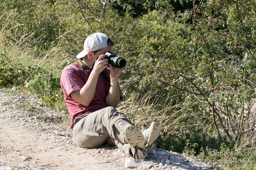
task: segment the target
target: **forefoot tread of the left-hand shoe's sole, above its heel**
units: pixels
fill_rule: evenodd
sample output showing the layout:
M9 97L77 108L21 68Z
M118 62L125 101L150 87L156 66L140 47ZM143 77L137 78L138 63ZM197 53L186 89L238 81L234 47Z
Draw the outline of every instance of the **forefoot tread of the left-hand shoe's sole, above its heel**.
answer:
M144 136L141 131L133 125L126 125L124 130L125 138L132 147L146 149L144 146Z

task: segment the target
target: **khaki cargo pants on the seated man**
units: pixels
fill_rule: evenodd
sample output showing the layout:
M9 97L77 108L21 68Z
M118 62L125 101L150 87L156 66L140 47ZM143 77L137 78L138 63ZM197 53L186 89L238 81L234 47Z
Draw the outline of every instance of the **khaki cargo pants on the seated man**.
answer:
M124 136L125 126L128 124L131 123L123 113L114 107L105 107L89 115L77 117L71 137L80 147L100 147L106 142L132 156L131 146Z

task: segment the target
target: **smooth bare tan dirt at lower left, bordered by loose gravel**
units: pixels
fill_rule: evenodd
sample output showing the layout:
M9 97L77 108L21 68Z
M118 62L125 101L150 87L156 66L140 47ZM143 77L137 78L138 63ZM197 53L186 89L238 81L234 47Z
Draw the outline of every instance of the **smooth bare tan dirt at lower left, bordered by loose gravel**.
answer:
M61 144L40 141L37 135L16 125L5 123L0 129L0 143L6 148L0 152L0 158L11 167L108 169L89 153L78 154L77 150L65 150Z

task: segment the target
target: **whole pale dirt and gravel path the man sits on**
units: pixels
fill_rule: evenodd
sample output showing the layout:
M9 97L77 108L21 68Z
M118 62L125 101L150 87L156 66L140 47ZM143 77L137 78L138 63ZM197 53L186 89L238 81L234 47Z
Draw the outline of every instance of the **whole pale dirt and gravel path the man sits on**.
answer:
M59 114L29 92L0 89L0 170L129 169L115 146L81 148L70 138ZM136 169L209 169L196 157L155 149Z

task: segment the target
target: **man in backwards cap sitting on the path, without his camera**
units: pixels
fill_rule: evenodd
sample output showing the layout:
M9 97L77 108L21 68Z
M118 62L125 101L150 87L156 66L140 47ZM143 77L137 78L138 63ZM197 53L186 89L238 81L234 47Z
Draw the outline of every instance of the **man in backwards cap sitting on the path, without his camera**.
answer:
M103 33L89 35L84 50L76 56L84 67L72 63L62 71L60 85L72 120L71 137L80 147L100 147L106 142L134 159L144 159L155 148L161 126L152 122L148 129L139 130L115 109L122 99L118 78L123 68L102 59L106 51L112 52L113 45Z

